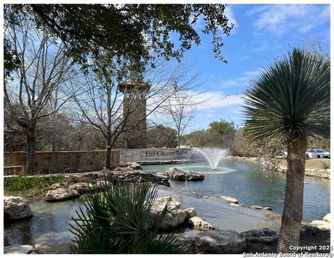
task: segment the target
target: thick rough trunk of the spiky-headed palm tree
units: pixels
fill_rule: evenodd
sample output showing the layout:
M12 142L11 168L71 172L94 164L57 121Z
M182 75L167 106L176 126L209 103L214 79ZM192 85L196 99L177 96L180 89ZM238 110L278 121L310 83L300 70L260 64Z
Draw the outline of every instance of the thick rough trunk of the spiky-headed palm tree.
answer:
M287 145L287 183L285 201L278 238L278 252L294 252L299 245L299 232L303 219L303 188L305 174L305 152L308 141L305 136L294 133Z

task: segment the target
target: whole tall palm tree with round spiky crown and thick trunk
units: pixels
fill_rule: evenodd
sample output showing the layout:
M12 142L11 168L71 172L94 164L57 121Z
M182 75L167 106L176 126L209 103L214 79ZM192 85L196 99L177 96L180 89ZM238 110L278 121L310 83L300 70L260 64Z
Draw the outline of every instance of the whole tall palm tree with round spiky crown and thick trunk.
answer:
M274 61L244 93L246 131L254 140L287 144L285 202L278 252L294 252L303 218L308 138L330 136L330 63L301 49Z

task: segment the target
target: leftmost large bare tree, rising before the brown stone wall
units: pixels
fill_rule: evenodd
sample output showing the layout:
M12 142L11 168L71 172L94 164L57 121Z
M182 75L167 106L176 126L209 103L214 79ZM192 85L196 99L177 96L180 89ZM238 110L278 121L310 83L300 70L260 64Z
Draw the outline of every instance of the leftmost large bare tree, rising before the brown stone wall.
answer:
M47 29L36 29L27 16L17 24L8 25L5 19L4 33L20 55L13 81L4 84L5 132L26 135L26 171L32 173L38 121L56 113L70 98L60 88L72 79L73 63L65 46L51 38ZM54 98L56 105L48 110L46 106Z

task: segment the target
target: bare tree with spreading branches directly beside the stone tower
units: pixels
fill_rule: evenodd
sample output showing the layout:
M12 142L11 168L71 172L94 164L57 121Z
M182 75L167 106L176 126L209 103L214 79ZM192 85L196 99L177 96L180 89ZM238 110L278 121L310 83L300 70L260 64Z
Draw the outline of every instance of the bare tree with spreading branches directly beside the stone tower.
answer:
M132 74L126 62L113 63L110 59L106 60L105 56L93 63L99 67L97 62L102 61L109 62L109 65L104 63L104 70L90 70L82 76L81 81L73 85L74 108L77 108L77 118L74 119L91 124L100 131L106 142L104 166L110 168L111 150L116 141L120 140L122 132L131 133L137 130L138 124L174 95L174 81L180 82L177 90L184 90L192 85L196 76L187 77L185 71L189 70L180 63L173 66L161 61L156 64L156 68L149 67L145 73L138 75ZM135 92L121 92L118 86L128 81L134 83ZM78 87L80 90L77 90ZM130 94L135 94L136 97ZM129 117L136 117L136 112L143 108L143 103L147 104L145 115L139 120L137 118L129 127Z

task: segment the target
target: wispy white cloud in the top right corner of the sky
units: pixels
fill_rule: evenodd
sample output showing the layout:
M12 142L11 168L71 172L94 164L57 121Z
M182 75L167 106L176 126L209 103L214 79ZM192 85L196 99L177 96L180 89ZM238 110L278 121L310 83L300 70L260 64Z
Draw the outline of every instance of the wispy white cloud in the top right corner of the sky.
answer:
M324 4L278 4L253 8L246 15L257 15L253 23L257 32L267 31L273 36L280 36L292 32L310 32L329 22L330 12L330 6Z

